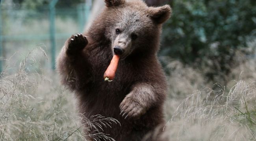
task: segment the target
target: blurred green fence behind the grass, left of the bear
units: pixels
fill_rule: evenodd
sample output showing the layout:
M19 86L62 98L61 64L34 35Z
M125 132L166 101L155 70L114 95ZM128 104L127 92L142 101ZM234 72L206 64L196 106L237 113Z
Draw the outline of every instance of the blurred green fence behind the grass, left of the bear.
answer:
M48 52L49 61L43 67L54 69L56 54L65 40L71 34L83 32L90 3L55 8L56 3L52 2L36 10L15 4L0 5L0 72L6 66L5 60L14 52L25 54L35 46L41 46ZM19 58L13 60L18 61Z

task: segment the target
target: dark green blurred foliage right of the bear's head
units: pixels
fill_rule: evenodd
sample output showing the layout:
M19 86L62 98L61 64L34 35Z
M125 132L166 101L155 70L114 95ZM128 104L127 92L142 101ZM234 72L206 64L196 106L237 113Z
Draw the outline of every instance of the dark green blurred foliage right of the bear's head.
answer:
M160 55L210 68L206 76L228 75L238 49L256 33L255 0L173 0L163 27ZM218 67L219 66L219 67Z

